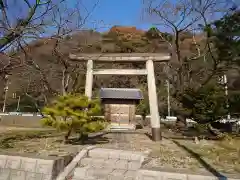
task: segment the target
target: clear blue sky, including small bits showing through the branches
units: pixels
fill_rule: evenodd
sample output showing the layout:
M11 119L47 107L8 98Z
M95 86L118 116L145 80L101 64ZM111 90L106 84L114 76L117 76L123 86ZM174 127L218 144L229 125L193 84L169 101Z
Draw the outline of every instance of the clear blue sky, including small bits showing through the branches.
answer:
M29 0L31 3L35 3L35 0ZM45 1L45 0L41 0ZM53 0L53 2L59 2L60 0ZM99 1L96 8L92 11L94 4ZM66 0L65 5L69 8L75 9L77 3L80 4L80 13L81 16L85 16L86 12L84 11L87 9L91 11L91 16L88 18L85 24L85 28L88 29L96 29L97 31L106 31L110 27L114 25L122 25L122 26L136 26L139 29L147 30L153 24L151 22L147 22L146 18L143 18L143 8L144 3L147 0ZM178 0L169 0L175 4ZM228 1L237 1L238 3L240 0L228 0ZM10 0L9 2L15 2ZM18 2L18 1L17 1ZM22 1L19 1L19 3ZM155 1L158 5L162 0ZM20 4L21 4L20 3ZM14 5L14 4L9 4ZM16 4L18 5L18 4ZM24 4L26 6L26 4ZM84 7L83 7L84 6ZM21 12L21 8L20 8ZM22 9L22 12L26 14L26 10ZM19 17L19 12L13 12L12 17ZM170 11L172 13L172 11ZM146 15L146 13L145 13ZM13 18L16 19L16 18ZM148 19L149 20L149 19ZM156 19L155 19L156 20ZM159 21L158 21L159 23ZM52 28L50 28L52 29ZM161 31L168 31L165 27L160 27Z

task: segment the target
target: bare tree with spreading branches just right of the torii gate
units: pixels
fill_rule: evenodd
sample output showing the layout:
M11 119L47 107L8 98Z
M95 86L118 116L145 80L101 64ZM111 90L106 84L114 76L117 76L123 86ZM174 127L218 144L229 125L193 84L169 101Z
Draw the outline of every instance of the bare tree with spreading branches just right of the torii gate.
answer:
M165 39L161 34L159 37L163 39L165 42L168 42L169 46L172 48L173 58L175 57L176 62L178 62L177 68L173 71L177 72L177 87L176 90L180 92L184 91L185 86L189 86L187 82L188 78L192 78L190 76L196 76L197 74L202 74L203 71L210 72L205 73L205 77L199 82L200 87L207 84L213 76L219 71L222 71L219 67L219 62L215 57L215 48L212 46L211 41L208 36L204 37L205 45L201 47L198 45L196 40L196 34L194 33L197 30L198 24L203 24L206 26L209 21L207 20L207 16L210 16L212 13L219 12L219 8L222 2L217 0L179 0L176 2L172 1L148 1L148 13L150 16L154 16L158 18L158 23L163 27L170 28L172 30L172 41L169 42L168 39ZM158 3L158 4L157 4ZM160 26L161 27L161 26ZM186 32L192 32L192 43L196 48L196 53L192 53L190 57L186 57L182 51L181 38ZM207 68L199 69L198 72L196 70L188 69L190 64L193 61L198 61L200 59L204 59L206 62L206 57L208 57L212 66L208 66ZM210 65L209 64L209 65ZM195 72L196 74L193 74ZM186 79L187 78L187 79ZM187 84L186 84L187 83ZM195 86L195 85L194 85ZM197 87L197 86L195 86Z

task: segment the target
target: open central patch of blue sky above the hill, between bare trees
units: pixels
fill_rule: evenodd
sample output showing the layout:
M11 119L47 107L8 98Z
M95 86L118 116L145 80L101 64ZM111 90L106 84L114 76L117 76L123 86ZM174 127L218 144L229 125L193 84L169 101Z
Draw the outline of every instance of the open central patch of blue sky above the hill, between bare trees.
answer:
M88 1L88 2L87 2ZM96 0L87 0L83 3L91 9ZM87 27L123 25L136 26L140 29L148 29L151 24L147 24L142 19L143 0L100 0L98 6L93 11L87 22ZM87 4L86 4L87 3ZM102 21L102 23L100 23ZM101 28L104 31L107 28Z

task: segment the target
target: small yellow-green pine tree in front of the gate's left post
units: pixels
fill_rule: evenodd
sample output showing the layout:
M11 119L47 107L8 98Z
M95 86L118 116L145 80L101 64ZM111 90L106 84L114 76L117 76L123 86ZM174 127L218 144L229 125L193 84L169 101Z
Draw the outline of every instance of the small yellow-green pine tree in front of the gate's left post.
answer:
M86 137L89 133L97 132L106 126L102 118L94 117L101 111L98 100L90 100L86 96L68 94L59 96L54 102L43 109L45 118L43 125L66 131L68 140L73 131Z

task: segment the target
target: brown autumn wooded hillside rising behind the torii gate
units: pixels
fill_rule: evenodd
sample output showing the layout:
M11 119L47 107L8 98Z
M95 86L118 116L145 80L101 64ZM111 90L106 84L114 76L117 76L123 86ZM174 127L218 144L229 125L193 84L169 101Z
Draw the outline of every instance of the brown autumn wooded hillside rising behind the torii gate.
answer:
M9 79L8 110L16 109L17 98L21 97L22 111L35 111L33 103L42 106L48 103L57 94L84 92L85 64L70 61L69 53L174 53L169 45L174 35L163 33L157 28L148 31L138 30L135 27L114 26L108 32L99 33L93 30L74 32L59 42L54 37L43 38L30 43L20 49L15 56L29 58L29 62L12 72ZM167 40L167 41L166 41ZM204 33L193 35L183 32L179 37L181 58L193 57L198 48L206 43ZM58 52L56 54L56 51ZM167 70L166 64L156 63L156 83L159 96L160 112L166 114L166 80L174 77L175 68L178 68L177 59L173 56L170 61L173 68ZM188 64L188 76L191 84L199 84L198 79L204 76L198 72L200 68L211 65L204 59L192 61ZM97 64L98 68L144 68L141 63L134 64ZM64 74L67 72L67 75ZM191 75L189 73L192 73ZM238 88L238 71L229 71L231 81L229 87ZM137 76L109 76L94 77L94 95L97 96L100 87L138 87L144 90L147 100L146 77ZM171 91L175 93L176 81L172 79ZM3 91L2 91L3 92ZM15 93L15 94L14 94ZM3 94L3 93L2 93ZM2 96L3 97L3 96ZM3 102L3 98L2 101ZM171 98L172 111L179 109L179 102Z

